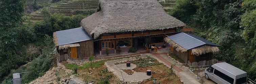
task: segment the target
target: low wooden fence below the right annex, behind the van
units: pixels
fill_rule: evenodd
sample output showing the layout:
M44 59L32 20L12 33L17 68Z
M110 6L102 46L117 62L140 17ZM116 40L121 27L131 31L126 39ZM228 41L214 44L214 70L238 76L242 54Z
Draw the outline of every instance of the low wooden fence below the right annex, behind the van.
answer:
M199 62L190 62L188 61L188 66L190 67L205 67L205 66L211 66L213 64L217 63L217 59L212 59L212 60L203 60L203 61L199 61Z

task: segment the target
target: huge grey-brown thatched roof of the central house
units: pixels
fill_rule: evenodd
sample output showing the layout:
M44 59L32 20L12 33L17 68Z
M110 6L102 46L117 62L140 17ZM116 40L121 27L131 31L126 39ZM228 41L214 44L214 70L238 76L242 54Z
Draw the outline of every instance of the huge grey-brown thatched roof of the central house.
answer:
M163 30L186 25L167 14L157 0L100 0L99 6L98 12L81 21L95 39L103 33Z

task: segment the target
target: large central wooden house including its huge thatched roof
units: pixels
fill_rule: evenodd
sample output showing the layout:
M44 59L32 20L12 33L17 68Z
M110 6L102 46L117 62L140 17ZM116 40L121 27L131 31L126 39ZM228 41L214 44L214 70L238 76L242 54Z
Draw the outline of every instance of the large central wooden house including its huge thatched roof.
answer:
M157 0L100 0L98 11L81 21L94 39L95 53L116 53L146 44L163 45L166 35L184 27L180 20L167 14Z

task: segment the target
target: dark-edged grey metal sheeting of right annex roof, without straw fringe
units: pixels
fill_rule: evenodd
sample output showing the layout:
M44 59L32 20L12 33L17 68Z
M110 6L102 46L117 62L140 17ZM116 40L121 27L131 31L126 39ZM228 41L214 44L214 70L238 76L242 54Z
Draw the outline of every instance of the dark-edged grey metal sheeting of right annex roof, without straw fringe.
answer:
M183 32L169 36L168 38L187 50L200 47L203 45L219 46L204 38L201 38L192 34L183 33Z

